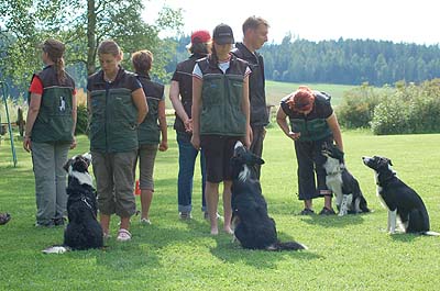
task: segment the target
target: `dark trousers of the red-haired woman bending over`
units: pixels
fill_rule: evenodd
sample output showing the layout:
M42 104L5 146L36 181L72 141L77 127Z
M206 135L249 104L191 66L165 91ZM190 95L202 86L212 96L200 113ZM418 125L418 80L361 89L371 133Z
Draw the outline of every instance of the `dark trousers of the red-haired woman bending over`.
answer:
M298 198L310 200L327 193L326 169L323 164L327 158L322 156L322 144L332 139L314 142L295 141L295 153L298 161ZM315 180L316 172L316 180Z

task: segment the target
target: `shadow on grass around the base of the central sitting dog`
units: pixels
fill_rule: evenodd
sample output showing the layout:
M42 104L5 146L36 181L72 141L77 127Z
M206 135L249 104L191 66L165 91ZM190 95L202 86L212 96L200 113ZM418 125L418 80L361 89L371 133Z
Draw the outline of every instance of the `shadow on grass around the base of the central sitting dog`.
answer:
M279 235L280 234L280 235ZM282 242L292 242L294 238L279 233L278 238ZM284 250L271 251L263 249L246 249L242 248L239 242L232 243L232 236L217 237L217 247L211 248L211 254L219 259L229 264L244 262L257 269L276 269L277 262L286 259L293 260L314 260L321 258L320 255L314 254L310 250Z

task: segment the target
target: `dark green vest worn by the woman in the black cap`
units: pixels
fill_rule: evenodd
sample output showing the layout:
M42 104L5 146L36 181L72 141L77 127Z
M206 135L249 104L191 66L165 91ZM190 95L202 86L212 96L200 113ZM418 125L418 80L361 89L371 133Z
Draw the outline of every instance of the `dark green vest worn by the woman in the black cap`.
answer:
M197 63L204 75L200 134L244 136L246 116L242 111L242 98L246 63L231 56L226 74L208 58Z

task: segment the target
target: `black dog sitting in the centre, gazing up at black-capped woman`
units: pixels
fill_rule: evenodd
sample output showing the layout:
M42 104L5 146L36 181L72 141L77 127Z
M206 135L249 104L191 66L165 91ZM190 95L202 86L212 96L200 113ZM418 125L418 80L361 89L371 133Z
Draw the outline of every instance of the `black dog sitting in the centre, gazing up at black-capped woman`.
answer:
M264 160L237 142L232 167L232 228L244 248L266 250L297 250L306 247L296 242L277 239L275 221L267 215L267 204L255 178L255 165Z

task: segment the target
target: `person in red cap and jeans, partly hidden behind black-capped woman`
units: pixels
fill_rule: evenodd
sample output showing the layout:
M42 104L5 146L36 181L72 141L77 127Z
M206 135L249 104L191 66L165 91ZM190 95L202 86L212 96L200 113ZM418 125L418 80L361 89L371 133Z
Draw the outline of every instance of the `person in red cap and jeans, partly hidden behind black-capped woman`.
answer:
M208 31L195 31L191 34L191 43L188 51L191 53L188 59L177 64L169 86L169 99L172 100L176 119L177 144L179 149L179 172L177 179L178 212L182 220L191 217L193 178L196 158L199 150L191 145L193 135L193 70L196 61L206 57L211 52L211 35ZM205 200L205 154L200 150L201 171L201 211L208 217Z

